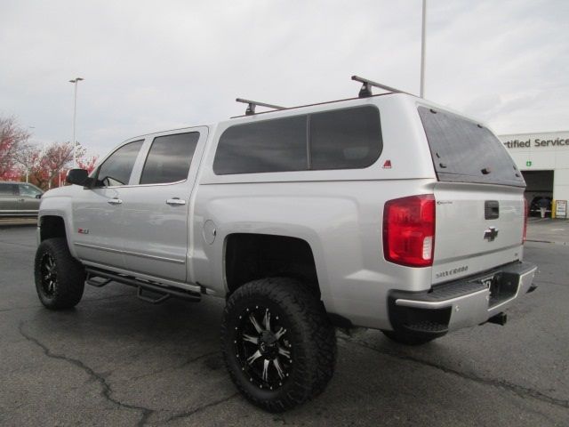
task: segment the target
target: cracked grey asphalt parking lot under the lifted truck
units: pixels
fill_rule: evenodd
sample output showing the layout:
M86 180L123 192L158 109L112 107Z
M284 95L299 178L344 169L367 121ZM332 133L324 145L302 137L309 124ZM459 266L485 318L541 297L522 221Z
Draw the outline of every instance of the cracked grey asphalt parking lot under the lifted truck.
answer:
M272 415L242 399L222 366L222 302L153 306L111 284L87 286L75 310L44 310L35 227L4 225L0 424L569 425L569 222L533 220L528 238L540 287L509 310L506 326L421 347L378 331L339 334L326 391Z

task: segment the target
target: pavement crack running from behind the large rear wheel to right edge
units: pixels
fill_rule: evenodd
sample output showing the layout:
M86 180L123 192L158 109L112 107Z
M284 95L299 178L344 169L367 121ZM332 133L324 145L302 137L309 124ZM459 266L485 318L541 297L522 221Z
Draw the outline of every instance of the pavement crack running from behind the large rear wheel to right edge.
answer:
M339 337L339 339L341 339L342 341L345 341L345 342L356 343L357 345L364 347L365 349L376 351L380 354L389 356L391 358L407 360L407 361L418 363L418 364L421 364L421 365L424 365L427 367L434 367L435 369L439 369L439 370L445 372L446 374L456 375L456 376L459 376L459 377L464 378L466 380L473 381L475 383L480 383L483 385L489 385L492 387L501 387L503 389L506 389L508 391L511 391L511 392L517 394L517 396L519 396L521 398L533 398L533 399L541 400L542 402L549 403L550 405L554 405L556 407L569 408L569 400L557 399L557 398L554 398L554 397L549 396L547 394L544 394L541 391L533 390L529 387L524 387L523 385L519 385L516 383L510 383L509 381L506 381L506 380L493 380L493 379L488 379L488 378L482 378L482 377L479 377L477 375L466 374L464 372L457 371L457 370L450 368L450 367L444 367L442 365L437 365L436 363L429 362L428 360L413 358L413 356L403 355L403 354L397 353L395 351L381 350L381 349L374 347L369 342L349 340L349 339L343 338L343 337Z

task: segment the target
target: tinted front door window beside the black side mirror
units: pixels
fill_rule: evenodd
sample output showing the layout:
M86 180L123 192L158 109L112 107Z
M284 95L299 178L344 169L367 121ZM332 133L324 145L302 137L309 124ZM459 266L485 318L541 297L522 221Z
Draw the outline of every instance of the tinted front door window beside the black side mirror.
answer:
M134 162L144 141L129 142L117 149L105 162L100 165L97 174L98 187L114 187L128 184L131 178Z

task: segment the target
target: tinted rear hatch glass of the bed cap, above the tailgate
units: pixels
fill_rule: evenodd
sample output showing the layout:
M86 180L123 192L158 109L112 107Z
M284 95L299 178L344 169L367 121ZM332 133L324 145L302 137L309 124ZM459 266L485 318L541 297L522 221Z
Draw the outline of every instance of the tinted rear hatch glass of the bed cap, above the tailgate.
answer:
M419 114L439 181L525 186L508 151L484 126L425 107Z

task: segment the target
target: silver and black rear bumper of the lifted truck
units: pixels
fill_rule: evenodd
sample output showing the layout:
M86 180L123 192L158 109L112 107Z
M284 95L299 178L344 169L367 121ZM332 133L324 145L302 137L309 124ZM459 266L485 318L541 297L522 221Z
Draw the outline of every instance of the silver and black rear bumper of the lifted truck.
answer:
M426 292L390 291L389 321L395 331L430 336L479 325L533 290L535 270L530 262L512 262Z

